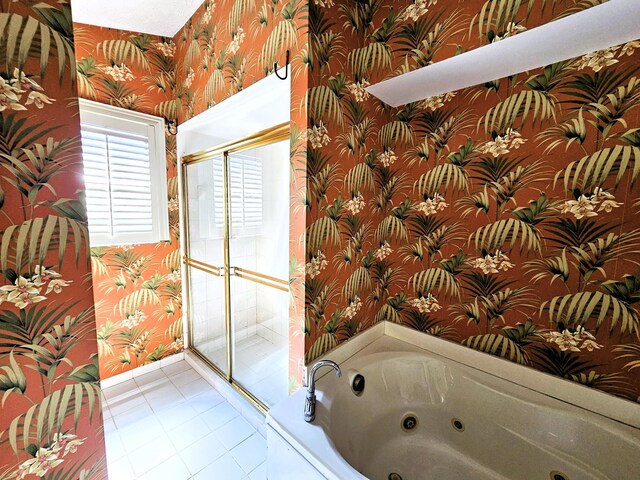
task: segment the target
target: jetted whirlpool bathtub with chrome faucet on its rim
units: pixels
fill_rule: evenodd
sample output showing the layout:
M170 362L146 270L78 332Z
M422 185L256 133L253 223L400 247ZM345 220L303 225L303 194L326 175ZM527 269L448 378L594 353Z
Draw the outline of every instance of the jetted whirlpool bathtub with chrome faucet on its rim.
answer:
M317 383L313 424L303 420L304 391L271 409L269 480L640 479L633 426L389 336L339 363L341 378L327 369ZM410 431L407 415L418 421Z

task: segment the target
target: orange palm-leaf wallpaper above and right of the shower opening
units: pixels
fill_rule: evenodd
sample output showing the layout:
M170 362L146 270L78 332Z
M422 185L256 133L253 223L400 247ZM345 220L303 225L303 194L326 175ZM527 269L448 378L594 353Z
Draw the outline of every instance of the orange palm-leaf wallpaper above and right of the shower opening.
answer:
M307 126L307 5L301 0L206 0L178 32L180 123L264 78L291 54L290 385L300 384L304 358L304 229Z

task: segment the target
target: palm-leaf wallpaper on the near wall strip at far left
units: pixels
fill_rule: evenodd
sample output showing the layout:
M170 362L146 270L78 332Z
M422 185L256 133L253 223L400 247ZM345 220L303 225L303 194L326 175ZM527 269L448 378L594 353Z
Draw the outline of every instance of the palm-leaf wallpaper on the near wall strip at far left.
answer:
M71 9L1 5L0 479L104 479Z

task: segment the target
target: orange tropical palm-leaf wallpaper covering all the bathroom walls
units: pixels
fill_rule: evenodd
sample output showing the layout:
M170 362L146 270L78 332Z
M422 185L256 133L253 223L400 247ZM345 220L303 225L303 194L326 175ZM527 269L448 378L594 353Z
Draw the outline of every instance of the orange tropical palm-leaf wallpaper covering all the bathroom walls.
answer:
M640 42L401 108L365 90L599 3L206 0L173 39L74 39L68 2L2 0L0 479L105 478L99 369L182 349L175 137L171 241L89 251L77 92L184 122L287 50L292 388L389 320L639 401Z

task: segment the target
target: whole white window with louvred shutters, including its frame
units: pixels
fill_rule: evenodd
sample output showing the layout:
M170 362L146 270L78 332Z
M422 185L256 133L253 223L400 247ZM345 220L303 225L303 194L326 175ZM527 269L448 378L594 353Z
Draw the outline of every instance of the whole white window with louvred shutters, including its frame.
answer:
M169 239L164 120L80 100L92 246Z

